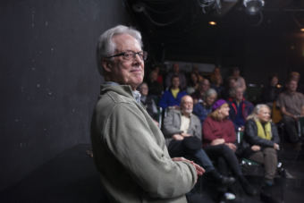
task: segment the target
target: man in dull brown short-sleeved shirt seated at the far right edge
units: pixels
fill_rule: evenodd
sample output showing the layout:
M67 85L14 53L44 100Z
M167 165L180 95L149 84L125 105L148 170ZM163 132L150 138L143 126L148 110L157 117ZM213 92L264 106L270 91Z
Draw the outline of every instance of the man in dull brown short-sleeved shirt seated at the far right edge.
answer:
M283 123L287 136L292 143L300 141L297 131L299 116L304 116L304 95L297 91L298 81L289 80L286 83L286 90L283 91L276 102L283 114Z

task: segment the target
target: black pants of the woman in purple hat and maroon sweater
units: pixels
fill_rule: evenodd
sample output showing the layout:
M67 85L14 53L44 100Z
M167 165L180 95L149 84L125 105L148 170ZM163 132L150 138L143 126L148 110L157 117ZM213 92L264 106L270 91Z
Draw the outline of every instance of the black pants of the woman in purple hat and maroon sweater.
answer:
M205 148L207 155L217 162L217 168L220 173L228 175L229 171L237 176L241 177L241 167L234 151L225 144L207 146Z

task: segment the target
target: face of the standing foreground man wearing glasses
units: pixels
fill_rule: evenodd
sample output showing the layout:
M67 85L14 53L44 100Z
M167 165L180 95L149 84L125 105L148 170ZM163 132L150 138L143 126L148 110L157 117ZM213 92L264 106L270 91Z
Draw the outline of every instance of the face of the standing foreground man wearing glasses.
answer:
M133 51L135 53L141 51L139 42L128 34L116 35L113 37L116 45L115 53L120 54L125 51ZM130 85L134 90L142 82L144 78L144 61L139 55L130 60L125 60L122 56L114 57L114 61L109 62L110 65L106 72L109 72L111 80L123 85Z

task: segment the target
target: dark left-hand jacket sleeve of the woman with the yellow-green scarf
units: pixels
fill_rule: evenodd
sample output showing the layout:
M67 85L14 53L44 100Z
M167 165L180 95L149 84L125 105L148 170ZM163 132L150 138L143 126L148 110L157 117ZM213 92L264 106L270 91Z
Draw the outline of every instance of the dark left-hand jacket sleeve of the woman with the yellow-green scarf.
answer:
M273 126L272 126L273 127ZM274 147L274 141L258 137L258 127L253 120L249 120L245 125L244 139L252 146Z

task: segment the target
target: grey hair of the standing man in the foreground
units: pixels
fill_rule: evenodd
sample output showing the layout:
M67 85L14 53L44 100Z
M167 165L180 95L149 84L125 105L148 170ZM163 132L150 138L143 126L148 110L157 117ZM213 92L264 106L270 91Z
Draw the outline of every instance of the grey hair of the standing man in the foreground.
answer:
M131 37L135 38L139 42L140 47L143 47L139 30L135 30L131 27L127 27L124 25L117 25L112 29L106 30L103 34L99 36L97 42L97 64L98 71L101 75L103 74L103 67L101 63L102 59L109 55L114 55L115 52L116 45L113 42L112 38L115 35L122 34L131 35Z

